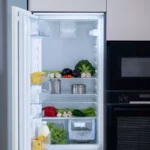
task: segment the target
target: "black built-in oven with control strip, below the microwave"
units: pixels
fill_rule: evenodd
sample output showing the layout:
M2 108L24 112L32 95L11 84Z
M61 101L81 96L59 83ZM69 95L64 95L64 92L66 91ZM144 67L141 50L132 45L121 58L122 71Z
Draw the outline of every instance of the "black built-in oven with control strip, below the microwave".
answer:
M150 150L150 93L108 93L107 150Z

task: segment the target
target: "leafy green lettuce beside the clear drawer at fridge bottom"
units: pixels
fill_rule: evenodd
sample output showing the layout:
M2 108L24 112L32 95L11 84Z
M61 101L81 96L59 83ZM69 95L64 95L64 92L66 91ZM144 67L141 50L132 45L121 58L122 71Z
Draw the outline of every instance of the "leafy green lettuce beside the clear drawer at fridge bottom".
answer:
M52 144L66 144L67 132L64 128L58 129L54 127L53 123L47 124L51 131Z

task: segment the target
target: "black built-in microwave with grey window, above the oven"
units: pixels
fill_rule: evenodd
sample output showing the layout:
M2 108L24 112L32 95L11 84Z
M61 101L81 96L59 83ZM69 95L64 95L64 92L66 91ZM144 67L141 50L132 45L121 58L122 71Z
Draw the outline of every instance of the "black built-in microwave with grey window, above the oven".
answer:
M106 90L150 90L150 41L108 41Z

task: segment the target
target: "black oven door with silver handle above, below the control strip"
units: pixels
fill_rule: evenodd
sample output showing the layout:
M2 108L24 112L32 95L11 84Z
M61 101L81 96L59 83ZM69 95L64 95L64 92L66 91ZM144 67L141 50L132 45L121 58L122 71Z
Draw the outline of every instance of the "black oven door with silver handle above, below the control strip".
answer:
M107 106L107 150L150 150L150 106Z

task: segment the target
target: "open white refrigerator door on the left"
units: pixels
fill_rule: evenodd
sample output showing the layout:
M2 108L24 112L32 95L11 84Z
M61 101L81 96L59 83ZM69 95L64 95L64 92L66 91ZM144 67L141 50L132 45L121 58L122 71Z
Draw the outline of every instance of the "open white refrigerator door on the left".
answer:
M38 24L32 24L33 20L38 22L38 17L12 7L12 150L31 150L31 122L34 116L30 109L30 74L33 68L37 69L32 63L32 34L38 31Z

